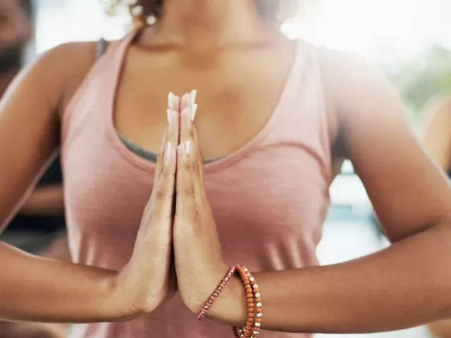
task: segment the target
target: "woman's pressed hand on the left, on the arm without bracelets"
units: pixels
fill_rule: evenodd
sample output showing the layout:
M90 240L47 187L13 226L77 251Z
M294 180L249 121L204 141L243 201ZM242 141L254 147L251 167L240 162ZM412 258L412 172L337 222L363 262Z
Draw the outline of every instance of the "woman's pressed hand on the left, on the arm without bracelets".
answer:
M125 301L130 317L154 311L176 289L175 274L170 271L174 270L171 256L180 99L170 94L168 101L168 127L156 163L152 196L142 216L132 258L115 282L115 292Z

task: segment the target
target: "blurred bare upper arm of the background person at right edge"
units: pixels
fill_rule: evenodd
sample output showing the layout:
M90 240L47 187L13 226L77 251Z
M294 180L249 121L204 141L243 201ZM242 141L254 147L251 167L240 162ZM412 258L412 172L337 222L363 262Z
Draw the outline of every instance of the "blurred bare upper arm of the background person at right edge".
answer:
M451 99L441 99L428 109L424 146L443 170L451 169Z

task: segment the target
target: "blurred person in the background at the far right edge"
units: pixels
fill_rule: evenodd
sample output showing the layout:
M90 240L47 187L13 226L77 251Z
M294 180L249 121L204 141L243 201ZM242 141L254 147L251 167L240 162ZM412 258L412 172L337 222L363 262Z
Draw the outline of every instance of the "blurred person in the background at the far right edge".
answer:
M451 96L433 100L426 113L424 144L451 178ZM437 338L451 338L451 320L429 325Z

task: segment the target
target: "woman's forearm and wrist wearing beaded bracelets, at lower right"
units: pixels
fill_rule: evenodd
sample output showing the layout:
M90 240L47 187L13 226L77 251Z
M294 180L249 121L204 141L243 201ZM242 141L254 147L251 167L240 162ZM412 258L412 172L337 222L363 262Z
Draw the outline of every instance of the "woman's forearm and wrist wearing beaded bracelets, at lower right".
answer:
M256 273L266 330L369 333L451 317L451 237L436 227L339 265ZM243 325L245 294L235 280L212 317ZM222 295L221 295L222 296Z

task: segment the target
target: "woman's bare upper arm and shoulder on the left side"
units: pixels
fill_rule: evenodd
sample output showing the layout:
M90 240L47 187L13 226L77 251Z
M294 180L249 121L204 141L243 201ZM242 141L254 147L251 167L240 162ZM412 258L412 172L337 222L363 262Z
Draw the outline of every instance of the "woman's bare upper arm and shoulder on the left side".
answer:
M58 46L23 70L0 101L0 229L59 144L58 111L87 55Z

